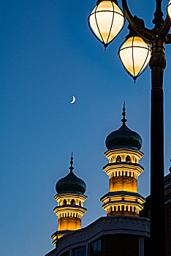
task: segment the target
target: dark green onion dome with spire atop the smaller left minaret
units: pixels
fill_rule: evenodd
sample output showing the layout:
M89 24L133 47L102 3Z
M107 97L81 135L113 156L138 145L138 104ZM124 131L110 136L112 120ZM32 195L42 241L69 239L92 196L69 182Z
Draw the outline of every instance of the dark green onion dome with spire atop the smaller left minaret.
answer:
M72 194L84 194L86 192L86 183L81 179L78 178L72 170L74 167L73 165L73 157L71 157L71 166L69 167L70 172L64 178L61 178L56 183L56 192L58 194L63 193L72 193Z

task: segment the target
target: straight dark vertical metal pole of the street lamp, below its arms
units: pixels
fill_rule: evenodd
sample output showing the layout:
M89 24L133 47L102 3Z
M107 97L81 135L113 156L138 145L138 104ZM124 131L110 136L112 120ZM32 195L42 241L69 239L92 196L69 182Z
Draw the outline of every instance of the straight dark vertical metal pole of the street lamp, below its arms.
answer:
M151 255L165 255L164 233L164 41L153 39L151 53ZM160 254L161 252L161 254Z

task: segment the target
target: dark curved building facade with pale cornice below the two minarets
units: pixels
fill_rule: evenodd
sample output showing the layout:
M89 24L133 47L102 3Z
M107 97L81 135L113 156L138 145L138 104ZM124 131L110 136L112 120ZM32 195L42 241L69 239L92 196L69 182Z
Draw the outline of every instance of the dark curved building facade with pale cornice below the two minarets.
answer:
M144 256L147 255L149 234L149 219L101 217L60 238L56 249L46 256Z

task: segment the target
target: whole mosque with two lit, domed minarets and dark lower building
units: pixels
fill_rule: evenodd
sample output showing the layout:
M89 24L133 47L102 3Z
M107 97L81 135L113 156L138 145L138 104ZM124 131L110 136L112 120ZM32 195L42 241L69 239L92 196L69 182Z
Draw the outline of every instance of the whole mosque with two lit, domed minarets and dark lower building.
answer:
M73 173L71 157L69 173L56 184L57 202L54 213L58 227L51 236L55 249L45 256L148 256L150 237L150 197L145 200L137 193L137 178L143 172L140 159L142 138L126 126L123 105L122 125L106 138L109 192L100 200L107 213L87 227L81 228L81 219L87 209L86 183ZM171 167L165 177L165 210L167 256L171 255ZM145 202L146 201L146 202Z

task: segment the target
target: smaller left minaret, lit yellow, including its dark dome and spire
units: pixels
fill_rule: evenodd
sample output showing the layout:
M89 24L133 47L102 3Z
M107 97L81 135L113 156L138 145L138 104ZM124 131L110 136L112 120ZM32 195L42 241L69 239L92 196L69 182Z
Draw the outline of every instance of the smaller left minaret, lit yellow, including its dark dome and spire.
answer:
M53 244L71 230L78 230L81 228L81 219L86 214L87 209L83 207L83 202L87 199L86 183L75 176L73 173L73 157L71 157L70 172L64 178L61 178L56 184L57 206L54 208L54 213L58 217L58 229L53 233Z

